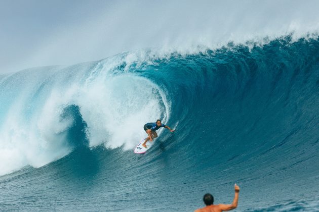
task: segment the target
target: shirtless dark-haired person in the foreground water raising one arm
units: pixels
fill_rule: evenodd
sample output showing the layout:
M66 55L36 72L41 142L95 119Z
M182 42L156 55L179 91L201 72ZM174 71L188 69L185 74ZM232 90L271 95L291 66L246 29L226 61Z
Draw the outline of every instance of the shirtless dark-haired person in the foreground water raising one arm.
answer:
M231 204L214 204L214 197L212 194L207 193L204 195L206 207L197 209L195 212L219 212L234 209L238 204L239 191L240 187L235 184L235 197Z

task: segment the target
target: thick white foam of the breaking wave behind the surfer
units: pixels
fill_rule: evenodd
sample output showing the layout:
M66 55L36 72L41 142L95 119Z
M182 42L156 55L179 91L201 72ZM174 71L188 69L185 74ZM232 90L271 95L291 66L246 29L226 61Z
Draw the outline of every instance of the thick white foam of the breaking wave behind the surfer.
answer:
M135 61L134 54L131 56L127 64ZM78 105L87 123L90 146L104 144L108 148L123 146L131 149L146 137L145 123L158 118L167 121L170 103L163 89L149 79L127 71L114 74L114 67L125 60L126 57L116 56L97 63L87 72L74 71L76 67L80 70L84 66L80 64L63 68L61 72L55 72L54 77L49 74L47 78L43 77L43 72L34 72L33 75L38 73L39 77L31 76L30 79L28 72L26 76L21 73L16 80L25 84L25 90L14 96L15 101L9 111L4 112L5 119L0 123L0 175L26 165L41 167L72 151L65 132L74 120L61 120L68 105ZM128 69L129 65L125 70ZM72 78L69 78L69 72L72 72ZM36 96L39 92L35 88L46 82L49 82L47 87L41 88L44 93ZM8 95L11 89L19 89L15 87L16 82L10 83L13 87L4 91ZM30 102L32 98L35 99Z

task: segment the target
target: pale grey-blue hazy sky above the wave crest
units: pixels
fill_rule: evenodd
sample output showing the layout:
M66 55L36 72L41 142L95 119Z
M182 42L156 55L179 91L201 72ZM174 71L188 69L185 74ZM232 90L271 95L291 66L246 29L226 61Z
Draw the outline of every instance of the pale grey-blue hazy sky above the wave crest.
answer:
M319 31L319 1L0 0L0 74Z

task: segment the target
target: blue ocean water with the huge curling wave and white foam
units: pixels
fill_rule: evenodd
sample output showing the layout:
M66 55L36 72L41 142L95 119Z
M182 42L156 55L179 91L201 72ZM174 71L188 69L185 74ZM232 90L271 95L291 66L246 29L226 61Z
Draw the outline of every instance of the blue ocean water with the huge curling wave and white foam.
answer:
M319 210L319 38L0 76L0 210ZM143 125L163 119L145 154Z

